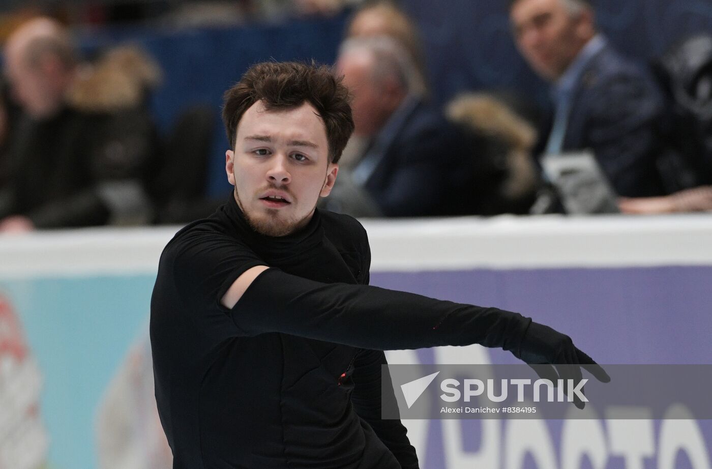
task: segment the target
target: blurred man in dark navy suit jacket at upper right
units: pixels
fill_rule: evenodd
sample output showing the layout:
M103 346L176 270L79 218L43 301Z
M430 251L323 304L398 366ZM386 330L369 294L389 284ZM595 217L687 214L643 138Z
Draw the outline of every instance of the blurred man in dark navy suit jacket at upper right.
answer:
M597 33L589 1L512 0L510 18L520 52L553 85L545 152L592 149L617 194L661 194L661 95L648 73Z

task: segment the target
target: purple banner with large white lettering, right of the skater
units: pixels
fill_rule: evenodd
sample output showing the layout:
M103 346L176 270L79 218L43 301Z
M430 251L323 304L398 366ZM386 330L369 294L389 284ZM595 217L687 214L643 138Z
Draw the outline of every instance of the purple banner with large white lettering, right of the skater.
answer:
M521 312L569 334L601 364L712 363L712 267L373 273L371 283ZM473 363L481 362L482 353ZM445 363L437 349L413 357L421 364ZM487 350L484 357L493 364L517 362L501 350ZM423 469L711 468L709 420L600 415L404 424Z

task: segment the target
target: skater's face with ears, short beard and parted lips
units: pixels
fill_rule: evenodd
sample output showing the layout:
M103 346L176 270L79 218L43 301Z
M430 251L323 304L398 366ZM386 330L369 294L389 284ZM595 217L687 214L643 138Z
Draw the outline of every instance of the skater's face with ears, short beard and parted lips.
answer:
M225 160L237 204L252 228L267 236L305 226L338 172L329 161L324 122L308 102L277 110L256 102L241 117Z

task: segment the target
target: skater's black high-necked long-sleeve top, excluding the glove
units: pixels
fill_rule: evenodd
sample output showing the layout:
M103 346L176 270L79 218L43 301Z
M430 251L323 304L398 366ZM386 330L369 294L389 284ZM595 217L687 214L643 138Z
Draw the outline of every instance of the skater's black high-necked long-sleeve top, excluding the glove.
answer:
M270 268L227 310L234 280ZM381 420L384 349L474 342L518 352L528 320L370 287L355 219L316 211L253 231L234 199L165 248L151 303L156 399L174 468L417 468Z

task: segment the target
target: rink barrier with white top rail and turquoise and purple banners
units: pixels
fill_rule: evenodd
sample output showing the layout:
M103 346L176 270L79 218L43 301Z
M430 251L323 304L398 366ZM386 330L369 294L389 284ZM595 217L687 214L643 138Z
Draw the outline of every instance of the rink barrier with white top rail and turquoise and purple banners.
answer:
M401 386L437 371L443 376L413 385L426 384L413 409L441 394L454 398L455 389L459 399L438 410L495 408L463 401L479 389L474 381L466 388L465 379L481 379L478 399L488 392L486 375L471 367L491 372L521 362L478 345L389 351L393 366L414 367L406 378L393 374L393 389L423 469L711 468L708 217L364 224L372 285L533 317L570 335L604 367L613 365L607 369L617 384L621 376L633 379L625 396L655 377L672 386L661 388L666 399L655 407L658 401L643 399L600 405L602 395L585 384L585 418L570 418L578 411L573 403L546 419L516 411L506 418L409 415ZM0 469L171 467L155 410L147 325L157 261L175 231L0 238ZM654 372L638 379L625 368L652 365ZM449 394L445 379L458 381L446 385ZM686 388L690 383L695 387ZM530 397L508 407L532 408Z

